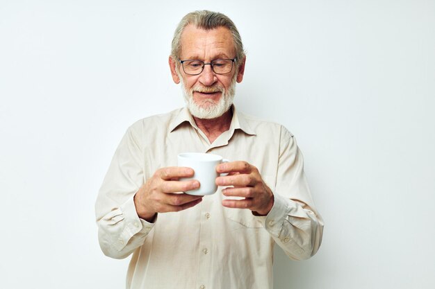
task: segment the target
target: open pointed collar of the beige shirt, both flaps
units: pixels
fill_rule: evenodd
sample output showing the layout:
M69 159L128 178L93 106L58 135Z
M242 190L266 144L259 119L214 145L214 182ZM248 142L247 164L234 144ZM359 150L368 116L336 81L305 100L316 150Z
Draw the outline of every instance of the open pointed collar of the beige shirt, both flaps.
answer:
M245 116L236 110L236 107L232 105L233 119L231 119L231 125L229 130L242 130L245 134L255 135L255 131L251 128ZM172 119L169 125L170 132L177 130L182 123L188 122L193 128L198 129L192 114L190 114L187 107L183 107L179 110L179 113Z

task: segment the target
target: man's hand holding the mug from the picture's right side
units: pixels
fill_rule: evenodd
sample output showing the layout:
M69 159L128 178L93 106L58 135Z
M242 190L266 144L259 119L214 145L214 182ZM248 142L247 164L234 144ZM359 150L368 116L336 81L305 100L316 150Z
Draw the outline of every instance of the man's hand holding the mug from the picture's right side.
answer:
M216 166L217 173L228 173L217 177L217 186L233 186L222 190L227 197L241 197L242 200L222 200L228 208L249 209L254 214L265 216L272 209L272 190L265 184L258 169L246 161L231 161Z

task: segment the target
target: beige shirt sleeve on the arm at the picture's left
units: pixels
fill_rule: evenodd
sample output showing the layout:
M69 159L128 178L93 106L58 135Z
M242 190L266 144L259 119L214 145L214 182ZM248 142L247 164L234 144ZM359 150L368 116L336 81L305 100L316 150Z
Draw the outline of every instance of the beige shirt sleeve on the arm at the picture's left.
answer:
M129 256L154 227L138 217L133 201L143 183L143 151L131 127L113 156L95 203L99 245L106 256Z

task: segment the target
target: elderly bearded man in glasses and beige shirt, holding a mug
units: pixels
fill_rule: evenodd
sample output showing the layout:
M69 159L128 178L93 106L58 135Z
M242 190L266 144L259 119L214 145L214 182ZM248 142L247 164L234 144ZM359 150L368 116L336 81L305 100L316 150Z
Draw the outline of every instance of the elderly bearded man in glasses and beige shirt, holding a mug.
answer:
M295 137L233 106L245 53L236 26L217 12L181 20L169 58L186 107L142 119L115 152L96 204L104 254L130 254L127 288L272 288L274 243L293 260L322 240L322 219L306 183ZM216 167L213 195L181 152L230 159ZM234 198L236 197L236 198Z

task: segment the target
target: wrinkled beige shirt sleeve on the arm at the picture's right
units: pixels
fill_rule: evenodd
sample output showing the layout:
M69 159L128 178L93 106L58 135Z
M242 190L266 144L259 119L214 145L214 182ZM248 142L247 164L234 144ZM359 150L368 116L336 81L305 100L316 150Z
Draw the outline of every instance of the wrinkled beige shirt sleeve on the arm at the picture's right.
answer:
M304 174L304 160L295 137L281 129L274 205L265 229L293 260L309 259L322 242L323 220L314 207Z

